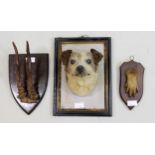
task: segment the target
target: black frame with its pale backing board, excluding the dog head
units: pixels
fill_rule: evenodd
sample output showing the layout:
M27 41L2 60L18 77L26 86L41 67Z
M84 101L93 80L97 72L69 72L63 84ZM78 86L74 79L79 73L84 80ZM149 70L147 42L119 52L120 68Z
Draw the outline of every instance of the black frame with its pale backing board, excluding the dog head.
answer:
M63 80L66 79L66 72L62 62L62 53L64 50L71 49L74 52L78 49L79 54L84 50L88 50L87 53L89 53L89 49L98 49L100 54L103 54L103 59L97 65L97 67L100 68L100 72L97 73L97 75L99 74L98 77L100 80L96 82L94 90L87 96L81 97L73 94L70 89L67 88L67 81ZM112 116L110 37L55 38L54 61L53 114L55 116ZM94 63L94 60L92 60L92 63ZM86 66L85 70L87 70L87 68ZM103 78L100 74L103 75ZM99 81L102 82L99 83Z

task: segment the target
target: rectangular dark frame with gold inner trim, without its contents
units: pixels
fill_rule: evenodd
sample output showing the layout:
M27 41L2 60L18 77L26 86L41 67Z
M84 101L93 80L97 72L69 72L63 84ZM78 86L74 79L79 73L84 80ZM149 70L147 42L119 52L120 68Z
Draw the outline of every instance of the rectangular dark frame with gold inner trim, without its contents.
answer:
M105 68L105 109L61 109L59 89L61 88L61 50L63 42L103 42L105 45L104 68ZM111 83L111 38L110 37L81 37L81 38L55 38L55 57L54 57L54 116L112 116L112 83ZM107 90L106 90L107 88Z

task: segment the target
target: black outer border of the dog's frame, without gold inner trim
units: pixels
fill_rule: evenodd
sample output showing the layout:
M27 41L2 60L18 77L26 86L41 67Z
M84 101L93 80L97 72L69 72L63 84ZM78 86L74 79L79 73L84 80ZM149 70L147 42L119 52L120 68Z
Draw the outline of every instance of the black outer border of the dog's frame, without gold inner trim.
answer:
M73 111L57 111L57 83L58 83L58 52L60 42L76 42L76 41L106 41L108 42L108 109L103 112L102 110L86 112L85 110L79 110L78 112ZM112 80L111 80L111 37L78 37L78 38L55 38L55 52L54 52L54 87L53 87L53 115L54 116L112 116Z

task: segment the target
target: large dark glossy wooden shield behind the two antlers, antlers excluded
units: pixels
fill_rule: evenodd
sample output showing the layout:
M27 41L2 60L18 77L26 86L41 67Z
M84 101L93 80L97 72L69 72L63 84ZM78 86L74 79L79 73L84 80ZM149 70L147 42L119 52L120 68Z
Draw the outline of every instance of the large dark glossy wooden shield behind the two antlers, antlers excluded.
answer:
M20 65L20 80L24 88L27 87L27 73L26 73L26 59L27 54L19 54ZM41 102L48 83L48 54L31 54L31 58L35 58L35 63L31 64L32 69L32 83L37 89L39 99L35 103L23 103L18 97L18 88L16 80L16 55L9 55L9 81L12 94L18 105L27 113L30 114Z

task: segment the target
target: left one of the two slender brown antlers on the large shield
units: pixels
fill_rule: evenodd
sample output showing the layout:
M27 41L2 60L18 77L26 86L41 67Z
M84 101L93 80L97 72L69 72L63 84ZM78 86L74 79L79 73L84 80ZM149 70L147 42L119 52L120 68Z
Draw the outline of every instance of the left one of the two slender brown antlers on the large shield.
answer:
M15 53L16 53L16 82L17 82L17 88L18 88L18 98L24 99L26 97L26 91L23 87L21 78L20 78L20 66L19 66L19 56L18 56L18 49L14 42L12 42Z

